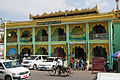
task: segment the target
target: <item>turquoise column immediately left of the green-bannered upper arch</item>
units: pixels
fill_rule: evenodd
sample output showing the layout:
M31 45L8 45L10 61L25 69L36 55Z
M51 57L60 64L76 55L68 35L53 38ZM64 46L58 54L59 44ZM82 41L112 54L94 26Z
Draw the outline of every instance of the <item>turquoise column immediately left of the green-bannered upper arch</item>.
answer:
M68 65L70 64L70 54L69 54L69 24L66 24L66 47L67 47L67 55L68 55Z

